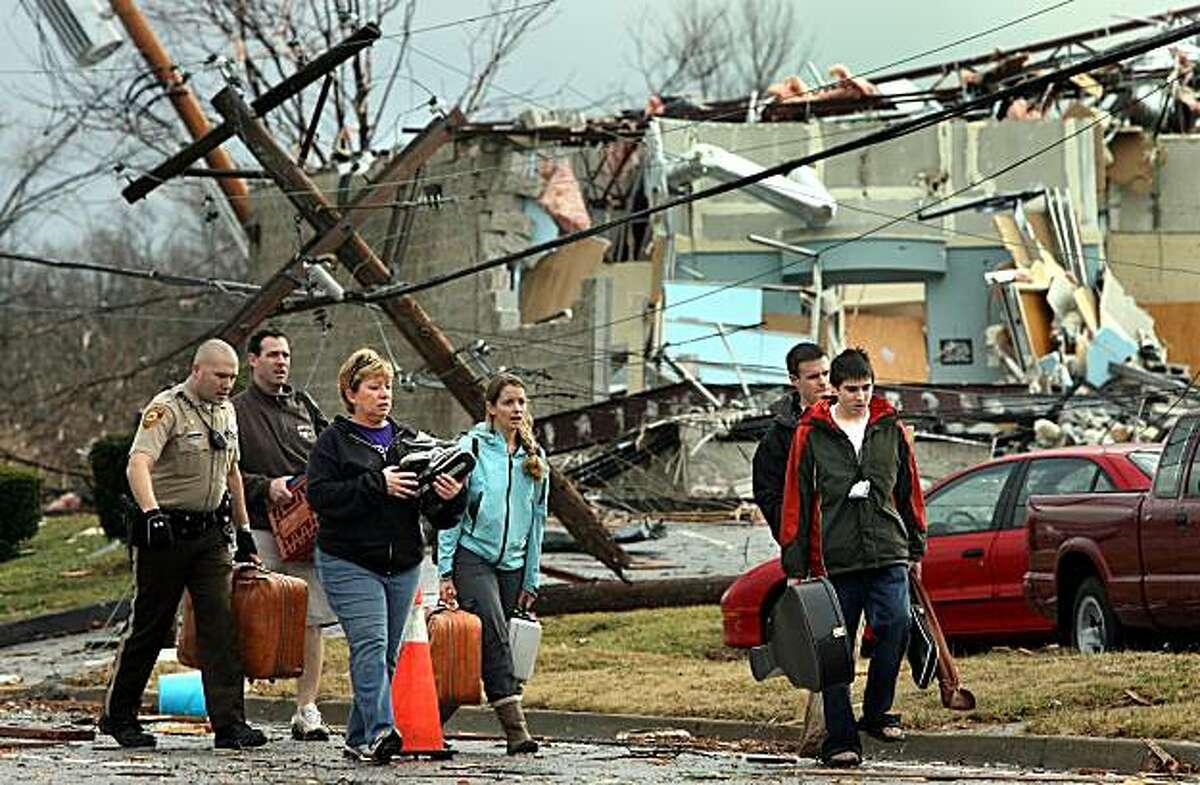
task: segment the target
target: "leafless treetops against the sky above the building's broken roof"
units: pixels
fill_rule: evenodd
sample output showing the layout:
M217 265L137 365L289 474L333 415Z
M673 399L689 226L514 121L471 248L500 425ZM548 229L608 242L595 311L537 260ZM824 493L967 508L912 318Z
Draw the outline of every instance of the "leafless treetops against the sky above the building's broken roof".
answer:
M763 90L796 72L811 48L793 0L676 0L630 26L636 67L653 95L716 98Z

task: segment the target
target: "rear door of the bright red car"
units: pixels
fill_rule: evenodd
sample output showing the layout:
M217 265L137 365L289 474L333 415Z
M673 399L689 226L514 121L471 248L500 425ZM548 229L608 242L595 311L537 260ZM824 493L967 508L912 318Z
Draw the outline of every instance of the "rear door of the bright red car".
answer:
M1025 519L1030 497L1105 492L1115 485L1104 469L1090 459L1036 457L1028 461L1016 489L1012 509L1006 511L1004 525L992 546L992 618L996 631L1049 631L1054 629L1054 622L1036 612L1025 599L1025 573L1030 569Z

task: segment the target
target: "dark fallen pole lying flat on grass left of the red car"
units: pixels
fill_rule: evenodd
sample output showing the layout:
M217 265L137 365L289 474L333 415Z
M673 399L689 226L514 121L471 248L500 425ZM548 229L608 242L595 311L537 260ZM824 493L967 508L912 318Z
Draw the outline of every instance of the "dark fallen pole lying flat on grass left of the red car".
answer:
M737 575L709 575L658 581L592 581L551 583L538 592L539 616L634 611L649 607L716 605Z

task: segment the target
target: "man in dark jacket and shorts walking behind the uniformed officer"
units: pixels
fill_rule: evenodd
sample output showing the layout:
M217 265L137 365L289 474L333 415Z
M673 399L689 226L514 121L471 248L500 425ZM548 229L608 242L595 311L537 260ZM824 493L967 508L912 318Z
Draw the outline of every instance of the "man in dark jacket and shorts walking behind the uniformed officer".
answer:
M312 561L284 562L275 544L268 511L292 501L292 483L302 478L308 451L325 426L325 418L307 392L288 384L292 347L288 336L264 328L247 343L250 384L233 399L238 411L240 468L246 485L246 509L254 544L263 564L308 585L305 619L304 672L296 679L296 711L292 737L300 741L329 739L329 727L317 708L317 687L324 661L322 627L337 623Z

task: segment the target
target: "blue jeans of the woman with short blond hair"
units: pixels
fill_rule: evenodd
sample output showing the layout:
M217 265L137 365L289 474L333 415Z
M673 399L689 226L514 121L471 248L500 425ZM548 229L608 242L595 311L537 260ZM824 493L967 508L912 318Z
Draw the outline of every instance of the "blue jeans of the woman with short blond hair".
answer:
M404 622L421 577L418 564L380 575L317 549L317 577L350 648L354 703L346 723L346 743L367 744L395 727L391 676L404 635Z

